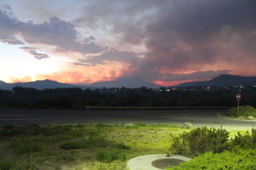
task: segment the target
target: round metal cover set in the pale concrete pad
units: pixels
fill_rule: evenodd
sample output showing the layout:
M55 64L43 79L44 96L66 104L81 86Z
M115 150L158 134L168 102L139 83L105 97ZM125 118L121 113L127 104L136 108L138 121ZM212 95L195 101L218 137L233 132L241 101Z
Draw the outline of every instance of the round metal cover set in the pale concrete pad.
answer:
M154 160L151 163L151 165L156 168L164 169L164 168L168 168L171 166L179 166L180 163L182 163L182 162L185 162L185 161L182 161L180 159L165 158L165 159Z

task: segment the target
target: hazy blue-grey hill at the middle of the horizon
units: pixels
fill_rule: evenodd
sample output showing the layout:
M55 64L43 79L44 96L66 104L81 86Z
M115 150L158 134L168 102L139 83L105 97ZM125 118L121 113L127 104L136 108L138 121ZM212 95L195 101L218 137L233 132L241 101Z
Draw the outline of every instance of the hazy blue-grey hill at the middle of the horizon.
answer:
M147 88L160 88L161 86L158 84L150 83L150 82L145 82L141 79L119 79L115 81L104 81L104 82L94 82L90 84L90 86L94 87L106 87L106 88L141 88L141 87L147 87Z

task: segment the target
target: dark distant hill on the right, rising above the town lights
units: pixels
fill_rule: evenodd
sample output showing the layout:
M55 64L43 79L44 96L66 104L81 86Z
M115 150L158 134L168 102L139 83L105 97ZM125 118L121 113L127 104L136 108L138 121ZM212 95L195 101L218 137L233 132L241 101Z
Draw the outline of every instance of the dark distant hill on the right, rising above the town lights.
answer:
M243 77L237 75L220 75L208 81L186 82L176 85L176 87L195 87L195 86L254 86L256 77Z

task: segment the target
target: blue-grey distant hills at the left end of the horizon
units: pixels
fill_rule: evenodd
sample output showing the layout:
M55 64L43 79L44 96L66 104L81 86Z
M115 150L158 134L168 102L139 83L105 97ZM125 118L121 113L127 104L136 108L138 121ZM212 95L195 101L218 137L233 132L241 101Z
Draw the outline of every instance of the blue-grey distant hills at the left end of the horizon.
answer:
M89 89L94 89L94 87L90 86L77 86L77 85L72 85L72 84L67 84L67 83L60 83L57 81L53 80L36 80L33 82L15 82L15 83L6 83L4 81L0 81L0 89L3 90L12 90L13 87L15 86L22 86L25 88L35 88L38 90L43 90L46 88L81 88L82 90L89 88Z

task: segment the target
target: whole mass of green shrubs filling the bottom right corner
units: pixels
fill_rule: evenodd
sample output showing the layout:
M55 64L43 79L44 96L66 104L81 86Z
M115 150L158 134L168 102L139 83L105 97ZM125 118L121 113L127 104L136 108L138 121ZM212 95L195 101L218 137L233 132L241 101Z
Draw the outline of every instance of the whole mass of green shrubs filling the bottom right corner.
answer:
M255 170L256 129L244 134L219 128L196 128L174 137L167 155L192 157L189 162L167 170Z

